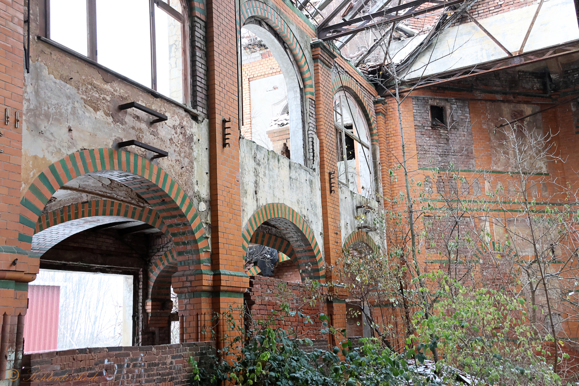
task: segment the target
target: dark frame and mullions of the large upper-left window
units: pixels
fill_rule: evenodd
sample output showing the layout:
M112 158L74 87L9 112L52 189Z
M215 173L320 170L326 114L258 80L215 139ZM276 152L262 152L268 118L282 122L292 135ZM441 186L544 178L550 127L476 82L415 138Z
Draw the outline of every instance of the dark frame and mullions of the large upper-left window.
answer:
M86 23L87 23L87 53L79 53L83 57L90 59L98 63L98 42L97 42L97 12L96 12L96 1L97 0L86 0ZM177 0L181 4L182 13L179 13L172 6L163 0L148 0L149 3L149 44L151 45L151 83L149 85L142 84L149 89L157 91L157 58L156 58L156 37L155 37L155 5L163 10L168 16L173 17L181 23L181 50L182 50L182 102L174 100L169 95L164 95L171 101L190 106L190 86L189 86L189 14L188 6L183 0ZM44 32L44 37L50 38L50 0L44 0L41 6L44 6L42 17L42 12L40 12L39 17L39 32ZM43 22L43 23L42 23ZM58 43L58 42L57 42ZM62 45L64 46L64 45ZM66 46L64 46L66 47ZM67 47L68 48L68 47ZM69 49L72 50L72 49ZM74 50L72 50L74 51ZM101 65L102 66L102 65ZM104 67L104 66L102 66ZM106 68L106 67L105 67ZM116 72L111 70L112 72ZM124 75L126 78L132 80L130 76ZM136 81L134 81L136 82ZM138 82L136 82L138 83ZM158 93L159 91L157 91ZM160 94L160 93L159 93Z

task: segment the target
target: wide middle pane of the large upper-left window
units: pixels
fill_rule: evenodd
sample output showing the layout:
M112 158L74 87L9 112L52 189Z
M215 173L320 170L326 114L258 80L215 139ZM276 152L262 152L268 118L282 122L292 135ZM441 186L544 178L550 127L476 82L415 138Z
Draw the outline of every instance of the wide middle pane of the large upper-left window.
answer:
M151 87L148 0L97 0L98 63Z

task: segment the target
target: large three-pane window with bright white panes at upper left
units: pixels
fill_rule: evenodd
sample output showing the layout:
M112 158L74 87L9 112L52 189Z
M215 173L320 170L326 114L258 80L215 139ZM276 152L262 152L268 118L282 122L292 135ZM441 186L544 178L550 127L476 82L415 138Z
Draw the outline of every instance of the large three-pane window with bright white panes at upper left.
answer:
M180 1L50 0L47 35L113 71L184 102L186 17Z

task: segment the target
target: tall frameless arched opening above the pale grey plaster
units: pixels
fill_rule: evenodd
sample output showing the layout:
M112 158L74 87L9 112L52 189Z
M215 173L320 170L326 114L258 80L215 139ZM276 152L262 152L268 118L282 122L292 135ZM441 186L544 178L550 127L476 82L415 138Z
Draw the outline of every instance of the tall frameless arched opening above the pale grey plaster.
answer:
M293 59L261 25L241 28L243 124L241 134L304 164L302 89Z

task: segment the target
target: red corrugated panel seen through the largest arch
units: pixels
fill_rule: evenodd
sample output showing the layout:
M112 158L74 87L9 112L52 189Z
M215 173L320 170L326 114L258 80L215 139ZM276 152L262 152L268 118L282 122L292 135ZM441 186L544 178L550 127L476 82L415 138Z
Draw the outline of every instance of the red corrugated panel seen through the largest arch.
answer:
M24 354L56 351L60 286L29 285L24 319Z

